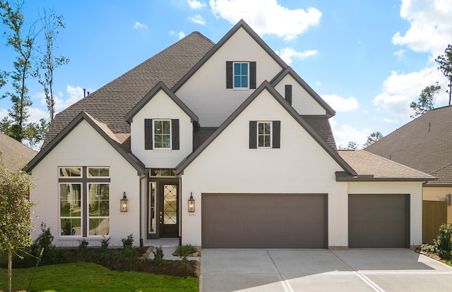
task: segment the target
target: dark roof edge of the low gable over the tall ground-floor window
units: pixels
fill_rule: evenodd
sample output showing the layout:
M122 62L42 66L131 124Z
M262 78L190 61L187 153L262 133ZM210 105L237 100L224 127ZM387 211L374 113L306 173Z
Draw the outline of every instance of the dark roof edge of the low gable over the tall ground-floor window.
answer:
M25 167L25 171L32 171L32 169L42 160L44 157L51 152L54 147L56 147L61 140L63 140L66 135L71 133L71 131L78 126L81 121L87 121L90 126L92 126L97 133L99 133L107 142L109 142L110 145L114 148L114 150L117 150L119 154L121 154L124 159L126 159L127 162L133 166L139 174L145 174L145 165L133 154L126 152L123 147L121 147L120 141L118 140L117 136L114 135L112 130L108 128L105 123L101 123L100 121L97 121L93 116L90 116L90 114L86 113L85 111L82 111L76 118L74 118L69 125L64 128L64 130L61 130L60 133L58 133L57 137L52 140L52 142L49 142L47 147L45 147L43 150L41 150L28 164L27 167Z

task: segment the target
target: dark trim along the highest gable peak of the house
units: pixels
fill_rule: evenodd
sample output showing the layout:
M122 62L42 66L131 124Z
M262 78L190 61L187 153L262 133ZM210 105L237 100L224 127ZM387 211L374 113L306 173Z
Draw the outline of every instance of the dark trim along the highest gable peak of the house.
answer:
M208 61L208 59L210 59L210 57L213 56L213 54L215 54L240 28L243 28L245 32L247 32L248 35L252 37L254 41L257 42L259 46L261 46L262 49L266 51L266 53L270 55L276 63L278 63L279 66L281 66L281 68L287 68L287 63L285 63L285 61L283 61L283 59L281 59L280 56L278 56L278 54L276 54L275 51L273 51L273 49L271 49L268 44L266 44L266 42L264 42L263 39L261 39L261 37L259 37L257 33L254 32L254 30L252 30L249 25L242 19L236 25L234 25L234 27L229 32L227 32L227 34L222 37L222 39L220 39L220 41L215 44L215 46L210 49L210 51L208 51L208 53L203 56L203 58L198 63L196 63L193 68L191 68L191 70L184 76L184 78L179 80L179 82L174 85L174 87L172 87L172 92L177 92L177 90L179 90L179 88L182 87L182 85L184 85L184 83L186 83L186 81L189 80L191 76L194 75L194 73L196 73L196 71L198 71L198 69L201 68L201 66L203 66L203 64L206 63L206 61Z

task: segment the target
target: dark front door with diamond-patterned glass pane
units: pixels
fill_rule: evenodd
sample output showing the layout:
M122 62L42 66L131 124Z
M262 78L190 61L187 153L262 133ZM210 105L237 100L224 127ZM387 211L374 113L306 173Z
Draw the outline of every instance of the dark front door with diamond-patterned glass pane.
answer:
M179 185L160 183L160 237L179 237Z

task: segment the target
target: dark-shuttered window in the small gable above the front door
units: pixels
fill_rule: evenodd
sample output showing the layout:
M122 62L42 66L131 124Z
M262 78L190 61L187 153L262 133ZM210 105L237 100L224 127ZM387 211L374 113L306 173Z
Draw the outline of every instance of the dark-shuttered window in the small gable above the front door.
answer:
M145 150L179 150L179 119L144 120Z

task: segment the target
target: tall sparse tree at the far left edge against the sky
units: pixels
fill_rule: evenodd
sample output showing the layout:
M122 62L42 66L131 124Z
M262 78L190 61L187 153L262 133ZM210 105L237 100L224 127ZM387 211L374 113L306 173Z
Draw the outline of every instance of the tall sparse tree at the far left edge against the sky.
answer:
M16 61L13 62L14 70L11 73L14 91L6 92L4 95L4 97L10 97L13 104L12 108L8 109L8 116L11 118L11 129L8 132L11 133L12 138L20 142L24 138L23 129L29 116L28 108L32 105L26 80L32 73L32 52L37 37L34 23L29 28L25 27L23 4L23 0L18 0L11 7L8 1L0 0L0 18L8 28L8 32L4 32L4 35L6 35L7 44L18 54Z

